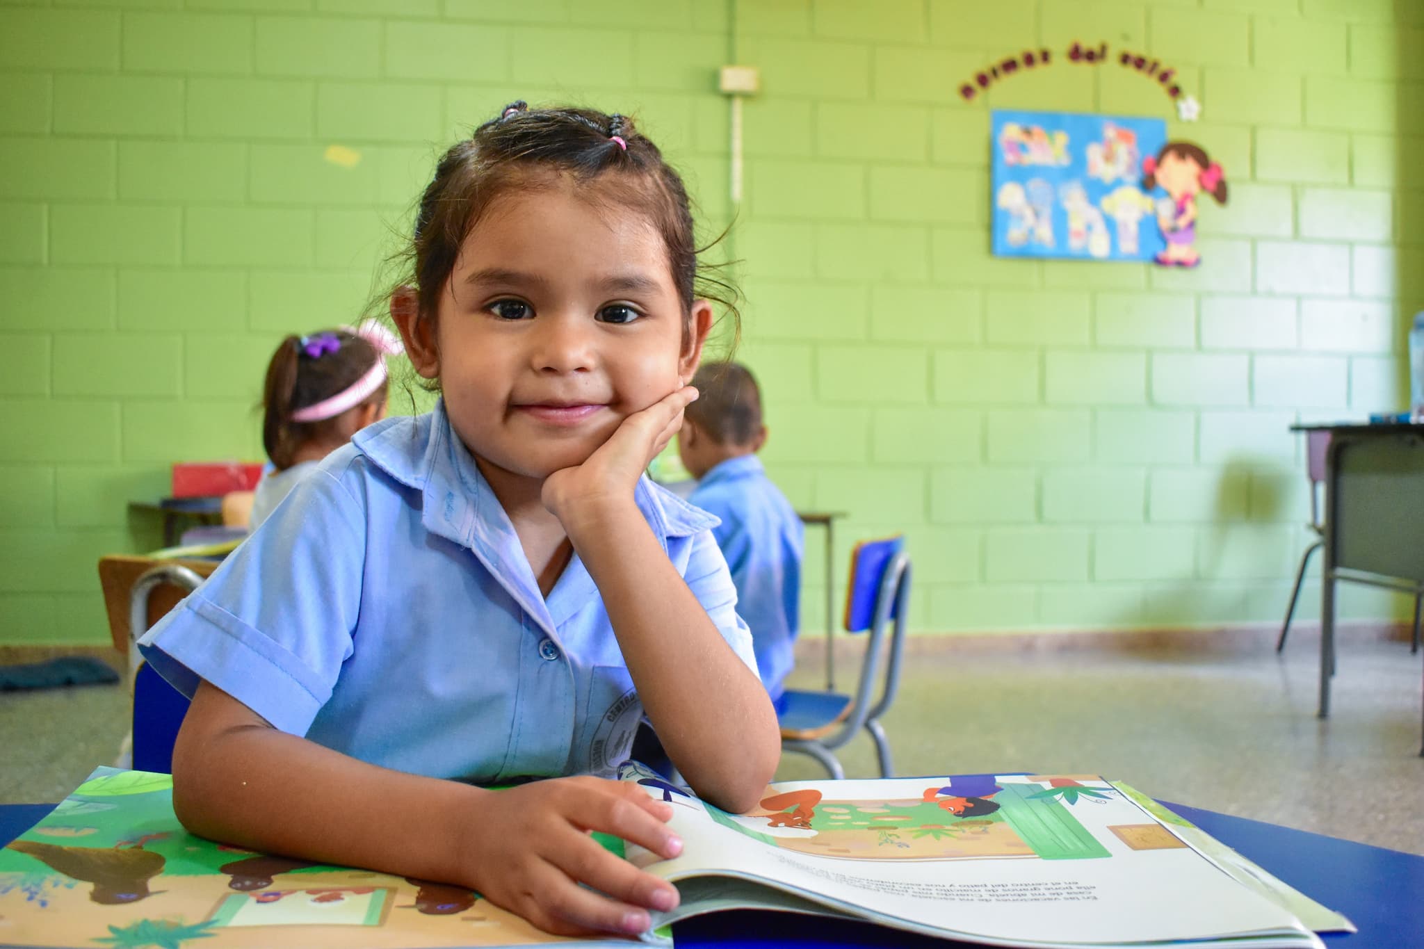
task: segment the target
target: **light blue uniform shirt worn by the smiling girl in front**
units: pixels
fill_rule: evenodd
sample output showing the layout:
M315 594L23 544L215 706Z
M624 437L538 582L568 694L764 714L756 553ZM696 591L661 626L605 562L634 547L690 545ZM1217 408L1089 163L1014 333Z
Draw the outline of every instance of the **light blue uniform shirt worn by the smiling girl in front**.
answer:
M716 519L648 478L634 497L755 669ZM188 696L206 680L282 731L441 778L612 775L642 717L584 563L540 595L443 403L328 455L140 649Z

